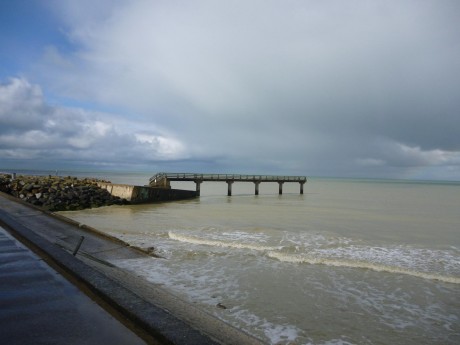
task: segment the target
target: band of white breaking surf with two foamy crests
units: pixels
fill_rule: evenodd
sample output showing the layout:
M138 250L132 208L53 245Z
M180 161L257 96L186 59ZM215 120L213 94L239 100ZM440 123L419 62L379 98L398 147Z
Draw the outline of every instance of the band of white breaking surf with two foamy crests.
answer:
M328 243L328 248L324 248L324 243L321 245L318 242L308 248L293 246L292 243L288 246L270 246L265 243L267 239L242 232L219 235L208 233L206 234L208 238L203 238L170 231L168 236L172 240L194 245L258 251L261 255L286 263L369 269L460 284L460 276L457 275L459 267L457 255L442 251L408 247L354 246L343 239L333 241L335 246L333 245L332 248L329 247L330 240L322 241ZM309 245L311 244L310 242Z

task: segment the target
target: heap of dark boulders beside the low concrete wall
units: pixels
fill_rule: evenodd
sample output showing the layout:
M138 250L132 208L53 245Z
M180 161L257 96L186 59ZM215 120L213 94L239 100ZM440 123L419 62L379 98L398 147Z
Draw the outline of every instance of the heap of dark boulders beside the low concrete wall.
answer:
M100 206L129 204L98 187L93 178L0 174L0 191L49 211L72 211Z

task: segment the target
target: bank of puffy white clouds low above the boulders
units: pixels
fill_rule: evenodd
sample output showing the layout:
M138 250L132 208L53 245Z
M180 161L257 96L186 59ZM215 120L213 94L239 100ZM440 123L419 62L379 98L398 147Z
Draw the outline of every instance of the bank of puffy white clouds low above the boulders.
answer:
M77 160L92 164L147 163L184 158L180 141L151 125L113 114L47 104L41 88L12 78L0 86L0 156ZM148 140L146 140L148 138Z

